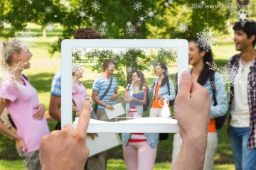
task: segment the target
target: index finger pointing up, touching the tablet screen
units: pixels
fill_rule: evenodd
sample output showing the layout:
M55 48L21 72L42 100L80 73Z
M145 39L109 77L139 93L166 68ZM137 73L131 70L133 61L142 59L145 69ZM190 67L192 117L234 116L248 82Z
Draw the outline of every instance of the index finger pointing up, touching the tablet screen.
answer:
M80 132L83 137L87 135L87 128L90 121L90 102L83 101L82 102L82 112L80 114L80 118L78 120L78 125L75 130Z

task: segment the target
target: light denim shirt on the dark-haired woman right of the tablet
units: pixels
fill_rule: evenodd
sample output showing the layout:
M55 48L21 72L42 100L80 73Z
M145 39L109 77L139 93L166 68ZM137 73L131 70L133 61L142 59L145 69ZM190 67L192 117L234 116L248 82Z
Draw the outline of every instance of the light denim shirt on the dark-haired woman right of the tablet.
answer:
M191 72L191 70L189 70ZM215 98L217 101L217 105L214 105L213 101L213 89L210 86L210 78L207 79L206 84L203 85L206 89L208 89L210 98L212 98L212 102L210 103L210 118L218 118L222 115L225 115L228 111L228 98L225 90L225 82L223 77L218 72L214 74L215 81Z

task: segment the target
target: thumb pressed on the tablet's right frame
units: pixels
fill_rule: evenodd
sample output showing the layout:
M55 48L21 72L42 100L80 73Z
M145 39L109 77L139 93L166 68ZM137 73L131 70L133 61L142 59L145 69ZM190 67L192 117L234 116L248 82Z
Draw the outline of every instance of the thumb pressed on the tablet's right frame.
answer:
M192 86L191 74L185 71L181 74L181 82L179 84L178 94L180 96L190 96L191 86Z

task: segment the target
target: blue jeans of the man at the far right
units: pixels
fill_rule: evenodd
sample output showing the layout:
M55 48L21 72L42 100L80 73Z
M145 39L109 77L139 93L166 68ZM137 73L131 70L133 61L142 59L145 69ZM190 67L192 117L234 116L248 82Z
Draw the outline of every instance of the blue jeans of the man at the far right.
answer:
M236 170L256 169L256 149L247 149L250 128L230 128Z

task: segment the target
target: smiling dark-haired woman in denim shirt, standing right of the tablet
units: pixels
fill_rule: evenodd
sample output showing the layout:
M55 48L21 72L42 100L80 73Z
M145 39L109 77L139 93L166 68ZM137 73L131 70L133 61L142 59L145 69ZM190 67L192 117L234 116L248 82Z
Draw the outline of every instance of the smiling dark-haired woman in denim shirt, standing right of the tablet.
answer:
M188 59L189 64L192 65L192 69L190 69L191 76L193 81L197 81L198 84L208 89L210 98L212 98L212 103L210 106L210 125L208 127L208 142L206 149L206 157L203 169L213 169L214 164L214 154L218 147L218 137L215 128L215 118L225 115L228 111L228 99L225 91L225 84L222 84L223 77L218 74L218 72L214 72L210 70L209 65L213 64L213 54L211 50L204 50L203 47L198 45L198 38L193 38L189 40L188 43ZM214 79L213 79L214 77ZM213 87L211 86L212 82L210 79L213 79L213 83L215 84L215 98L213 98ZM216 101L216 105L214 104ZM196 109L196 108L195 108ZM193 121L193 120L191 120ZM181 136L176 133L174 135L174 149L172 154L172 164L176 162L178 157L178 152L181 149L182 139Z

